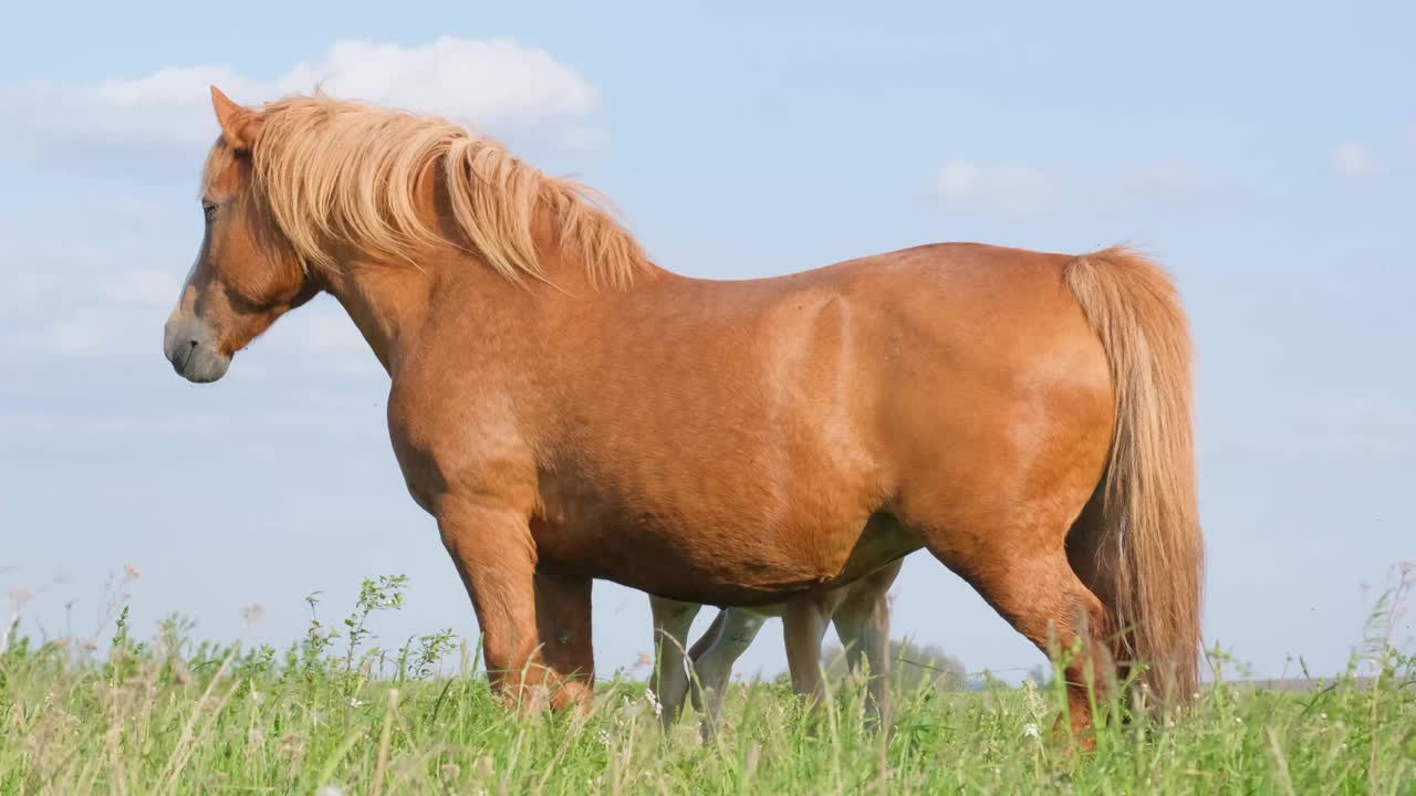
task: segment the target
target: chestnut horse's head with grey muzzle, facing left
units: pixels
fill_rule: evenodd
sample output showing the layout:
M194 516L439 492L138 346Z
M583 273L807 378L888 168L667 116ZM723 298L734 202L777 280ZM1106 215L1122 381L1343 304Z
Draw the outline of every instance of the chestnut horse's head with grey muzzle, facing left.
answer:
M262 113L215 86L211 99L221 139L202 174L205 235L163 336L173 370L195 382L225 375L232 354L319 292L256 186Z

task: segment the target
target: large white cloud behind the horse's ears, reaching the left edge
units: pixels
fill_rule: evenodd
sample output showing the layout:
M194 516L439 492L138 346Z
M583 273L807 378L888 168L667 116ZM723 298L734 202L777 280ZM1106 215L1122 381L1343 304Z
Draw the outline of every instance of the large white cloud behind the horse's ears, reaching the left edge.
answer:
M496 136L518 133L578 146L599 92L544 50L513 40L443 37L425 47L340 41L275 79L225 65L159 69L92 84L33 81L0 86L8 132L31 146L91 143L171 147L217 135L207 86L261 105L316 85L336 96L440 113Z

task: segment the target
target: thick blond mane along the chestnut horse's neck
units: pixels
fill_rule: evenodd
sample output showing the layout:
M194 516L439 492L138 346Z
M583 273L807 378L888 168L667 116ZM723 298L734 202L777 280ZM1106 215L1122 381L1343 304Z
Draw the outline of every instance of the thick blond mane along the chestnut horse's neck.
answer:
M323 95L286 98L265 106L252 161L256 190L312 265L333 266L330 249L340 244L389 259L409 259L419 244L453 244L511 282L545 280L534 235L545 211L555 242L579 256L592 283L626 288L651 268L598 194L436 116ZM211 170L208 163L208 178ZM446 187L466 241L449 241L419 217L416 190L429 171Z

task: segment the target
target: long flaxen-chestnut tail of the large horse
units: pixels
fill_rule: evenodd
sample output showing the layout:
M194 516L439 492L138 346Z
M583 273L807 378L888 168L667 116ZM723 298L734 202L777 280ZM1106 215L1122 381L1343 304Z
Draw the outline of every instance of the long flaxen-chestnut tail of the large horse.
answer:
M1117 661L1144 663L1165 704L1199 677L1204 535L1195 486L1191 341L1170 278L1124 248L1083 255L1065 279L1102 339L1116 431L1097 497L1068 540L1102 603Z

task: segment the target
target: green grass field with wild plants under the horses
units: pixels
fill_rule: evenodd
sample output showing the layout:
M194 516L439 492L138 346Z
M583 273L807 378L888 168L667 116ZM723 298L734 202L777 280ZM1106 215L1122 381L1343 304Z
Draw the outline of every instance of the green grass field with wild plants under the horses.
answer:
M0 793L1416 793L1416 659L1381 627L1347 677L1294 693L1221 669L1189 714L1103 725L1092 754L1049 732L1061 690L1027 684L898 694L888 737L862 729L858 683L814 722L784 686L742 684L704 745L691 715L663 735L641 683L518 718L447 633L365 649L401 588L367 582L285 653L177 620L139 643L126 616L102 659L11 633Z

